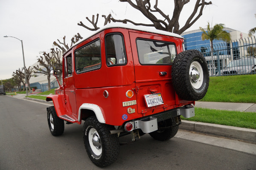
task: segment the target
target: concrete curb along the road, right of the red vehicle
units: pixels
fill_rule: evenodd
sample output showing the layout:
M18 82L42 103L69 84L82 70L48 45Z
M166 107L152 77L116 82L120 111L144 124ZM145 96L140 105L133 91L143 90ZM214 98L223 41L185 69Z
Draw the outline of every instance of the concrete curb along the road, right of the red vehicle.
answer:
M181 129L256 143L256 130L182 120Z

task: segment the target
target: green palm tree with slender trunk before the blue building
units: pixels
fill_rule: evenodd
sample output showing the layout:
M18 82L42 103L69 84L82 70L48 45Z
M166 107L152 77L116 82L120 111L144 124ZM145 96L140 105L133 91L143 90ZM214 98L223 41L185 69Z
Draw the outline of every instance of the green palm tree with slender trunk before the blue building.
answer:
M212 51L212 75L213 75L213 40L222 40L229 42L231 41L230 33L224 31L224 24L215 24L213 28L210 28L210 24L208 22L207 31L204 28L199 27L202 33L202 40L210 40L211 51Z

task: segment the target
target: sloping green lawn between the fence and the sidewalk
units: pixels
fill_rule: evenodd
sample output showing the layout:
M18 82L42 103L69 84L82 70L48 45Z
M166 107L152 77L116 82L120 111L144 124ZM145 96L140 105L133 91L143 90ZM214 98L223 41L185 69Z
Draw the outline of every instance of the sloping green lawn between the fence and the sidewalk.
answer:
M256 103L256 74L210 77L203 102Z

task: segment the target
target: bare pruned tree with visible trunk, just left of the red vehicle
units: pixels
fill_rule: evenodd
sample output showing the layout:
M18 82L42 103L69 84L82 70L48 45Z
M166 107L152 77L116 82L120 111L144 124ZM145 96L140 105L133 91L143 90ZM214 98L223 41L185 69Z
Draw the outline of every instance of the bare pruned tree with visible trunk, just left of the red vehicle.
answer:
M46 53L45 51L43 52L43 56L39 56L38 62L39 62L39 65L43 66L44 68L41 68L38 65L36 67L34 66L34 69L37 70L34 72L47 75L48 91L49 91L49 90L51 90L51 80L50 80L51 74L50 74L50 72L51 72L51 69L53 68L52 67L53 59L52 59L52 56L50 56L50 54ZM45 61L44 61L44 59L45 59Z

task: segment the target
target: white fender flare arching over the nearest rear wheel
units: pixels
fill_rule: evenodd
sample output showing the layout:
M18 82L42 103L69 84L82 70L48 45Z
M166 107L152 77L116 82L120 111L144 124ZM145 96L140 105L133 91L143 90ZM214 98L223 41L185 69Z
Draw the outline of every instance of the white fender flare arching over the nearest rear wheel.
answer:
M88 109L93 111L96 114L96 117L100 123L105 123L105 119L103 116L103 113L98 105L90 104L90 103L84 103L79 108L79 115L78 115L78 121L81 121L81 109Z

